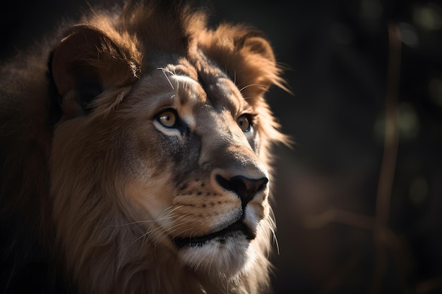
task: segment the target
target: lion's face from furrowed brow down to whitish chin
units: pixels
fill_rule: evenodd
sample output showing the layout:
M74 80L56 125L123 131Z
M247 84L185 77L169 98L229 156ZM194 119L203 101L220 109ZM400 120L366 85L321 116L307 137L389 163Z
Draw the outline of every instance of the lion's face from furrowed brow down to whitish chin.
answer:
M123 103L143 113L131 122L136 167L126 196L156 242L194 269L230 276L253 261L268 173L256 109L221 71L199 78L189 64L168 65Z

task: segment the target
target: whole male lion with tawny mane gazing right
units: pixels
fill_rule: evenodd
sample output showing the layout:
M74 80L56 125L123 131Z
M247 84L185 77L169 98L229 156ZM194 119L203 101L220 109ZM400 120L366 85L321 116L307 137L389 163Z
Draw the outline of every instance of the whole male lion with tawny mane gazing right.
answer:
M1 290L269 293L281 73L183 1L94 8L4 63Z

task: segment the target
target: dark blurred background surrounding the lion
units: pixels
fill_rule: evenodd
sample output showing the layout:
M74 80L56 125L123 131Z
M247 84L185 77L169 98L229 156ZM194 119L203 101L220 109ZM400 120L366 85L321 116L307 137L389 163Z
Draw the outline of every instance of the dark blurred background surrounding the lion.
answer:
M294 93L267 95L295 142L275 149L275 293L442 293L441 1L207 3L268 36ZM1 1L1 60L87 7Z

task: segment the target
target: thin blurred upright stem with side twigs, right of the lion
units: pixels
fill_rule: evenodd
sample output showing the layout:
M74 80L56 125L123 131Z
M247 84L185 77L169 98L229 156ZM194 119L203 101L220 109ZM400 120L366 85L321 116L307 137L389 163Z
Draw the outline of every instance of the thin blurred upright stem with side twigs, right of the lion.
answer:
M398 267L399 279L405 293L422 293L427 289L438 288L442 284L440 278L426 281L416 288L407 281L407 271L411 267L411 259L402 241L390 229L390 200L398 156L398 92L400 81L400 31L395 24L388 25L389 54L386 91L386 125L383 158L378 180L376 195L376 211L374 217L354 212L330 208L323 214L308 216L304 225L308 228L321 228L329 223L341 223L356 228L373 230L376 247L374 278L371 293L382 292L382 279L388 265L388 255ZM352 265L354 267L354 264ZM352 268L350 267L350 268Z

